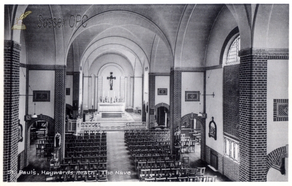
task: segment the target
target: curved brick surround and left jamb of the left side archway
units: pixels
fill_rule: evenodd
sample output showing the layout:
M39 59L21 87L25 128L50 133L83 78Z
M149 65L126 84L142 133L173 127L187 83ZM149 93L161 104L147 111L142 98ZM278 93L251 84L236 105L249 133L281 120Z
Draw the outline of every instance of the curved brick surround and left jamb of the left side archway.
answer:
M52 131L52 129L54 129L54 124L55 124L55 119L46 116L46 115L42 115L40 117L40 115L37 115L37 118L32 118L31 120L26 122L25 125L25 160L24 160L24 165L25 167L28 166L29 164L29 151L30 151L30 128L33 125L33 123L35 123L36 121L47 121L50 125L50 131Z

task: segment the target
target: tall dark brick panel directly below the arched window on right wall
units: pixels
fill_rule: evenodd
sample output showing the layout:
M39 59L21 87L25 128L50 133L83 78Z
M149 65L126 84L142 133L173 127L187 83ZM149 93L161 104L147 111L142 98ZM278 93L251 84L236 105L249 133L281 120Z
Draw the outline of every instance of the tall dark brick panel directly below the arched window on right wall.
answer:
M239 64L223 69L223 132L239 138Z

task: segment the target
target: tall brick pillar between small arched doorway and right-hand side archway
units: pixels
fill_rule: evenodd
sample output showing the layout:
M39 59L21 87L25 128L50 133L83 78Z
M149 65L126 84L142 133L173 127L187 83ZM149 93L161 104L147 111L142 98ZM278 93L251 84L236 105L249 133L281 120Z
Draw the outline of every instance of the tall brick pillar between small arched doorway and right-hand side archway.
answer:
M178 126L181 126L182 115L182 70L171 68L170 69L170 149L171 153L175 153L174 132Z

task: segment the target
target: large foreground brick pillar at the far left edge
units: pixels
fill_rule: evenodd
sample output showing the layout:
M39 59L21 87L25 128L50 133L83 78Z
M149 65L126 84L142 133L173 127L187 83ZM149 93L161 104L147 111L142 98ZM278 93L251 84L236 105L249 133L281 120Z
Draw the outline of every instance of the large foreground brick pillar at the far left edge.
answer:
M3 182L17 180L20 50L17 42L4 40Z

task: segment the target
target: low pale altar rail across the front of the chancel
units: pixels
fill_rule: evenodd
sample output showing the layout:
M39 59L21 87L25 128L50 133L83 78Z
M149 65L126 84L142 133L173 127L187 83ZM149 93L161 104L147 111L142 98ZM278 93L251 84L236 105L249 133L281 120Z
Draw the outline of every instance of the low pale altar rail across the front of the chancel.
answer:
M81 129L146 129L146 122L82 122Z

